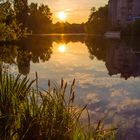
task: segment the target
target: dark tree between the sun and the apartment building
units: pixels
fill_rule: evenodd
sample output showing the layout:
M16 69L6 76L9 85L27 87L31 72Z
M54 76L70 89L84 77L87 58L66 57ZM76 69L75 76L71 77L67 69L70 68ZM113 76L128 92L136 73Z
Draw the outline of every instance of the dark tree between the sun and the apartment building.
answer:
M91 9L91 14L86 24L87 33L103 34L109 27L108 5L96 10Z

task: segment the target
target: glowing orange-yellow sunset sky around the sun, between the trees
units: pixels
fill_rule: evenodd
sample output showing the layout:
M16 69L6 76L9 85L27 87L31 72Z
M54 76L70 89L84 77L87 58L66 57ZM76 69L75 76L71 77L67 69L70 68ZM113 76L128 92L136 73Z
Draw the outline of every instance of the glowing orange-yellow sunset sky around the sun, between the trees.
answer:
M63 11L66 14L65 21L69 23L86 22L90 9L107 4L108 0L29 0L29 3L47 4L53 13L53 22L60 21L58 12Z

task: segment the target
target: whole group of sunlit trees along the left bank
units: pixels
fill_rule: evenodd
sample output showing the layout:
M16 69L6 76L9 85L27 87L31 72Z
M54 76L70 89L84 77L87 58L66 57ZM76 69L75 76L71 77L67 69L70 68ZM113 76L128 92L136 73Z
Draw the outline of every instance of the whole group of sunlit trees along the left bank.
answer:
M14 6L13 6L14 5ZM27 29L33 33L50 33L52 13L47 5L32 3L27 0L8 0L0 3L0 41L19 40Z

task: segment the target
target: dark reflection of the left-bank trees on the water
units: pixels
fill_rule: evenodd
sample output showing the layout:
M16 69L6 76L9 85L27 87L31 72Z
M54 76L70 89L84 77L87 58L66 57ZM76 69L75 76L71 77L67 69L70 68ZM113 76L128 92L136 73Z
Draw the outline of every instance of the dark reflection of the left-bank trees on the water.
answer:
M18 66L21 74L30 72L30 63L48 61L52 54L50 38L29 37L16 45L0 45L0 61Z

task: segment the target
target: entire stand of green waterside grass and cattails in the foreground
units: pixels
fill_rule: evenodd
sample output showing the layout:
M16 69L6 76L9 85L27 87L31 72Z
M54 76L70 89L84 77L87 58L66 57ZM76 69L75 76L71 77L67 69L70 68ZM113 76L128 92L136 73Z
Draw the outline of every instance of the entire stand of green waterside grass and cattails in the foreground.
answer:
M88 115L88 127L81 124L86 106L74 106L74 84L75 80L66 99L63 79L60 87L48 81L48 89L40 91L37 74L31 81L1 72L0 140L115 140L115 129L104 130L102 121L91 129Z

